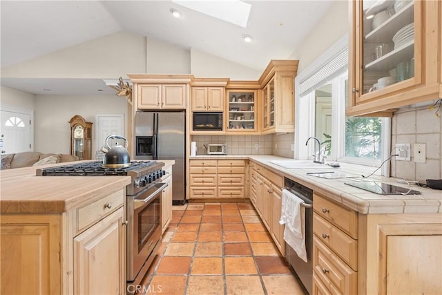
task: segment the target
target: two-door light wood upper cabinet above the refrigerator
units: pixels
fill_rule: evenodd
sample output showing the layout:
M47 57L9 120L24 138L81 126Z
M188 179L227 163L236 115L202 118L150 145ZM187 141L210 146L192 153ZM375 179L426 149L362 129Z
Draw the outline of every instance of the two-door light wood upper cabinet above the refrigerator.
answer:
M185 109L191 75L128 75L139 110Z

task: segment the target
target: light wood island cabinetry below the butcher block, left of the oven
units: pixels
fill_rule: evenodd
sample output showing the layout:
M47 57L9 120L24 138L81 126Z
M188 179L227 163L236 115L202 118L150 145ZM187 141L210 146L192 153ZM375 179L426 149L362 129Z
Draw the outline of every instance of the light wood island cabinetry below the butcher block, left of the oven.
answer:
M1 294L124 294L124 189L53 214L2 214Z

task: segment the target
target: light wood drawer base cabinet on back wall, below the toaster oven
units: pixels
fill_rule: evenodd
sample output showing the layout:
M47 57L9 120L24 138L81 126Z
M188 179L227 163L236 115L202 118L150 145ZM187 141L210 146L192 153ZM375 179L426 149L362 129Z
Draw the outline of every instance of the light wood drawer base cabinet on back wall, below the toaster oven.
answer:
M190 160L190 198L245 198L245 166L245 160Z

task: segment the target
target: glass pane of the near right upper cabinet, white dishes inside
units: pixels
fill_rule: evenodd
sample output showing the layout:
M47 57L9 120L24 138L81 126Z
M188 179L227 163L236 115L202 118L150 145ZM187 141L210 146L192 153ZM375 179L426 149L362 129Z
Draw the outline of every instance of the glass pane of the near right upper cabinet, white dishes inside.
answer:
M362 94L414 78L414 53L421 47L415 42L421 26L414 21L414 1L363 1L362 26Z

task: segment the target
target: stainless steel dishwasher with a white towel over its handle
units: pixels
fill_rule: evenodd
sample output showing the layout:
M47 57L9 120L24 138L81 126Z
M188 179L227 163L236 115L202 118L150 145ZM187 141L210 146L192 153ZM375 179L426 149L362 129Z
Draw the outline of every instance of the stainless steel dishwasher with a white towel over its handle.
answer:
M294 193L304 201L305 207L305 251L307 252L307 263L298 257L298 254L287 242L285 243L285 258L293 267L307 292L311 294L313 287L313 191L308 187L295 182L289 178L284 178L284 188Z

